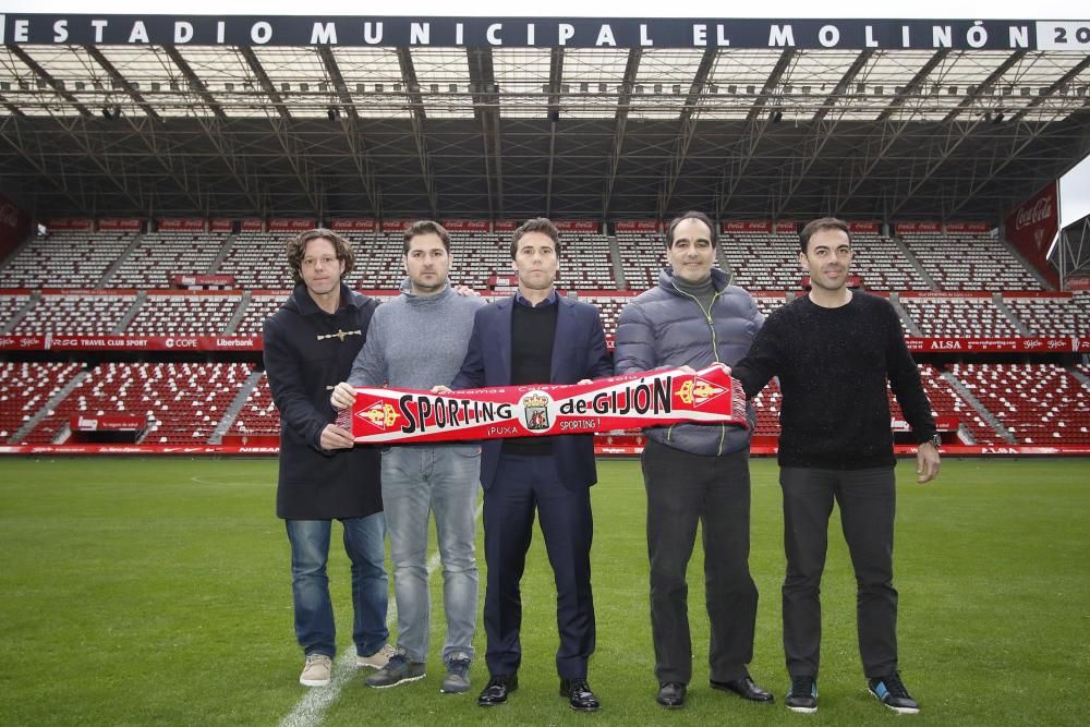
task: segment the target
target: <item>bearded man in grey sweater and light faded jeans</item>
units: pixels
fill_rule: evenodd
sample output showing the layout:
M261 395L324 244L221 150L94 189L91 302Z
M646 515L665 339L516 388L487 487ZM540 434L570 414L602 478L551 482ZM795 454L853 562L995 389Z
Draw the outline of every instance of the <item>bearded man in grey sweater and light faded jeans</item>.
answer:
M453 379L465 358L473 316L485 302L459 295L447 280L450 237L436 222L414 222L404 233L408 279L401 295L375 311L367 340L347 383L330 400L351 405L354 386L431 389ZM481 473L476 444L400 445L383 451L383 504L393 560L398 605L397 653L368 687L393 687L422 679L431 633L427 587L428 512L435 513L443 560L443 604L447 616L447 666L441 691L470 688L476 626L477 568L473 512Z

